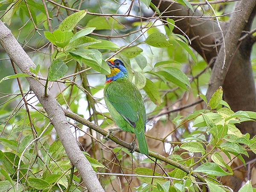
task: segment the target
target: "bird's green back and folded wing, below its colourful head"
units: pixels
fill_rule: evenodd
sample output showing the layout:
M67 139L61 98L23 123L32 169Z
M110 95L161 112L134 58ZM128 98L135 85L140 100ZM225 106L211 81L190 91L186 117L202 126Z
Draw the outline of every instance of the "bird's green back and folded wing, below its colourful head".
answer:
M106 98L122 117L135 128L138 111L142 107L140 91L130 81L112 81L105 93Z

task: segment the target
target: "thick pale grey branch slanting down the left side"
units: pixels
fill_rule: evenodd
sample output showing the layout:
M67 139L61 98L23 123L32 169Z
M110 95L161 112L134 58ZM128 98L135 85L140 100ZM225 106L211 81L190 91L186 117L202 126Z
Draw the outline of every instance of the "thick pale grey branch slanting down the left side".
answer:
M0 21L0 44L3 49L6 50L10 59L17 64L23 73L29 74L29 67L35 68L33 61L2 21ZM41 74L39 74L39 76L41 76ZM52 124L64 146L70 162L79 170L87 189L90 192L103 192L104 190L99 183L96 173L79 149L75 137L73 137L64 111L59 103L54 99L51 93L48 93L48 96L44 97L44 87L38 80L27 78L27 81L29 82L30 89L35 93L44 110L52 119Z

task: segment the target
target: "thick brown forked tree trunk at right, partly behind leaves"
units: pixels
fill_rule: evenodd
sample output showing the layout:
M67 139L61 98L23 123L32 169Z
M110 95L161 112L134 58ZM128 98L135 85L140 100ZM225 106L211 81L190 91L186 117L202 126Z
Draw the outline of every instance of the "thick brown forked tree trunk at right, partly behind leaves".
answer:
M152 0L155 6L160 0ZM173 1L163 0L159 10L163 12ZM230 20L221 23L221 29L225 35L225 52L226 60L224 69L224 46L222 44L222 34L215 21L202 20L200 18L184 18L175 22L186 35L192 39L191 47L195 49L207 63L214 63L212 67L212 75L207 90L207 99L209 99L214 91L223 86L224 100L228 102L233 111L256 111L256 91L253 78L253 71L250 63L250 53L254 43L251 35L247 35L241 42L239 38L246 33L242 31L250 31L253 18L256 14L255 0L242 0L236 5L236 10L240 12L233 13ZM173 12L168 12L175 10ZM201 16L202 12L196 10L193 13L190 9L174 3L165 16ZM175 17L171 17L177 20ZM209 19L209 18L208 18ZM174 29L175 33L182 33ZM256 135L256 122L244 122L237 125L243 134L249 133L250 137ZM256 157L250 153L250 157L246 159L252 160ZM234 177L234 180L237 178ZM230 182L233 189L237 189L240 182Z

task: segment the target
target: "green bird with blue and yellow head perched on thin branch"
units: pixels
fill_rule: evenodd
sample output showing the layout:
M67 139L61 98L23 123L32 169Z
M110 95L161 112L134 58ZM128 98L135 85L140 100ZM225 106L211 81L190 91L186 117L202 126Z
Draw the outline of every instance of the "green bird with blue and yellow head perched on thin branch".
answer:
M111 58L108 65L111 73L106 76L104 99L109 113L120 129L135 133L140 153L148 155L144 134L146 111L140 91L129 81L128 72L120 59Z

